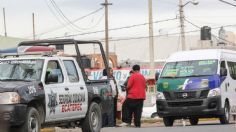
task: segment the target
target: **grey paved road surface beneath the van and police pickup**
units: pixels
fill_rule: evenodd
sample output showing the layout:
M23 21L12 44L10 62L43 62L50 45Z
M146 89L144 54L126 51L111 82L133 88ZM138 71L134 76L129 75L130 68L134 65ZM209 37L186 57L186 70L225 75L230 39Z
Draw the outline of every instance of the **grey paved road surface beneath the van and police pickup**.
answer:
M56 132L81 132L81 130L57 129ZM201 121L197 126L190 126L182 122L175 123L173 127L164 127L163 123L145 124L142 128L112 127L103 128L101 132L236 132L236 124L220 125L218 121Z

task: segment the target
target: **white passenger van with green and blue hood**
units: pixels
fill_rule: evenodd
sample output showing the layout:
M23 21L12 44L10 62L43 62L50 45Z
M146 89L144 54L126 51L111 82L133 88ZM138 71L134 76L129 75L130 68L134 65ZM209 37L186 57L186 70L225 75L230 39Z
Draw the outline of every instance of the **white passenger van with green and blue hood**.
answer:
M203 49L172 54L157 83L157 114L166 126L187 118L217 117L222 124L236 115L236 51Z

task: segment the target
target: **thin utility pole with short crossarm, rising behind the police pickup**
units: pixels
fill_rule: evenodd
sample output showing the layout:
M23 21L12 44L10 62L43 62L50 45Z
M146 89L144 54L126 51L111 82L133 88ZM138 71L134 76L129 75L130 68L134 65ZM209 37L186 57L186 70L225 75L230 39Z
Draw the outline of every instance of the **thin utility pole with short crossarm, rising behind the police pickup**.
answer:
M105 6L105 44L106 44L106 59L109 64L109 29L108 29L108 6L112 5L108 3L108 0L105 0L105 3L102 3Z

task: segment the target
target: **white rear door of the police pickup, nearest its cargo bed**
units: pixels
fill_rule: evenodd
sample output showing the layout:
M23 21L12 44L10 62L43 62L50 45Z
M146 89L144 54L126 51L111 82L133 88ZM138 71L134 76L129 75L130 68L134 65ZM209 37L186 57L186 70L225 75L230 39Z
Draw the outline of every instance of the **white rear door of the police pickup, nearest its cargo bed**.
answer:
M81 73L81 69L73 60L63 60L68 81L70 84L70 93L72 96L69 107L63 106L64 112L70 112L73 118L85 117L88 109L88 94L85 82Z

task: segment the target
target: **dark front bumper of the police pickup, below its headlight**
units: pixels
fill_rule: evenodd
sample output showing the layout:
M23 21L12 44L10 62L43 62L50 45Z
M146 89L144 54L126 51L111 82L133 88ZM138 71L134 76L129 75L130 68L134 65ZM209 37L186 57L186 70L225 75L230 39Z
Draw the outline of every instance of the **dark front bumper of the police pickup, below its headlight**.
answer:
M22 125L26 118L27 105L0 105L0 120L10 126Z

